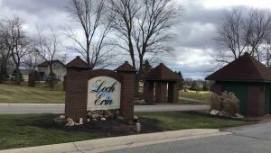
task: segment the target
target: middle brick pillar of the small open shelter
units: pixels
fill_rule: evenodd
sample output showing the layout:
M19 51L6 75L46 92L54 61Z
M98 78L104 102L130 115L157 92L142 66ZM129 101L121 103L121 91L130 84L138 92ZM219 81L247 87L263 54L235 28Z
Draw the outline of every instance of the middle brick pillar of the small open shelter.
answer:
M155 103L167 103L166 93L167 93L167 83L166 82L156 82L155 84Z

